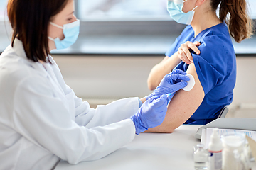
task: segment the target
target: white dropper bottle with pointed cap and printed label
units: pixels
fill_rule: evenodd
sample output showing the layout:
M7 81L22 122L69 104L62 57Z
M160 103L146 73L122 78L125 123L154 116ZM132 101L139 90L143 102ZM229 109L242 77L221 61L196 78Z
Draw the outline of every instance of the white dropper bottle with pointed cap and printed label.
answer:
M210 136L210 144L208 147L209 155L209 169L222 169L222 150L223 145L218 135L218 128L213 128L213 133Z

